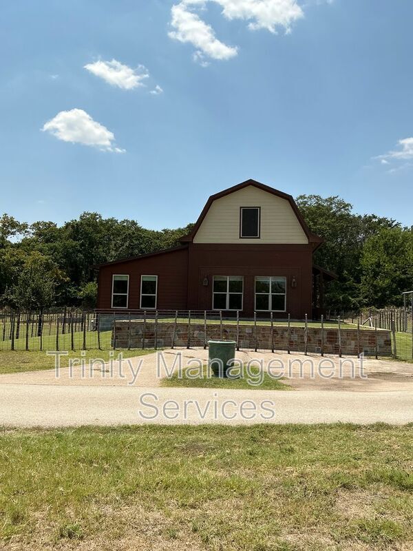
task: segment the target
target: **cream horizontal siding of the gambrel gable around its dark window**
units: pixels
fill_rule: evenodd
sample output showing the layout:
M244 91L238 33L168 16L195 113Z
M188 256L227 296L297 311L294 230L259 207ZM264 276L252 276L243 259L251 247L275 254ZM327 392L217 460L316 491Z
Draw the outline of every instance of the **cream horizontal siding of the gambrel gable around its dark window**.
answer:
M261 237L240 239L240 207L261 207ZM288 200L253 185L213 201L194 243L308 243Z

